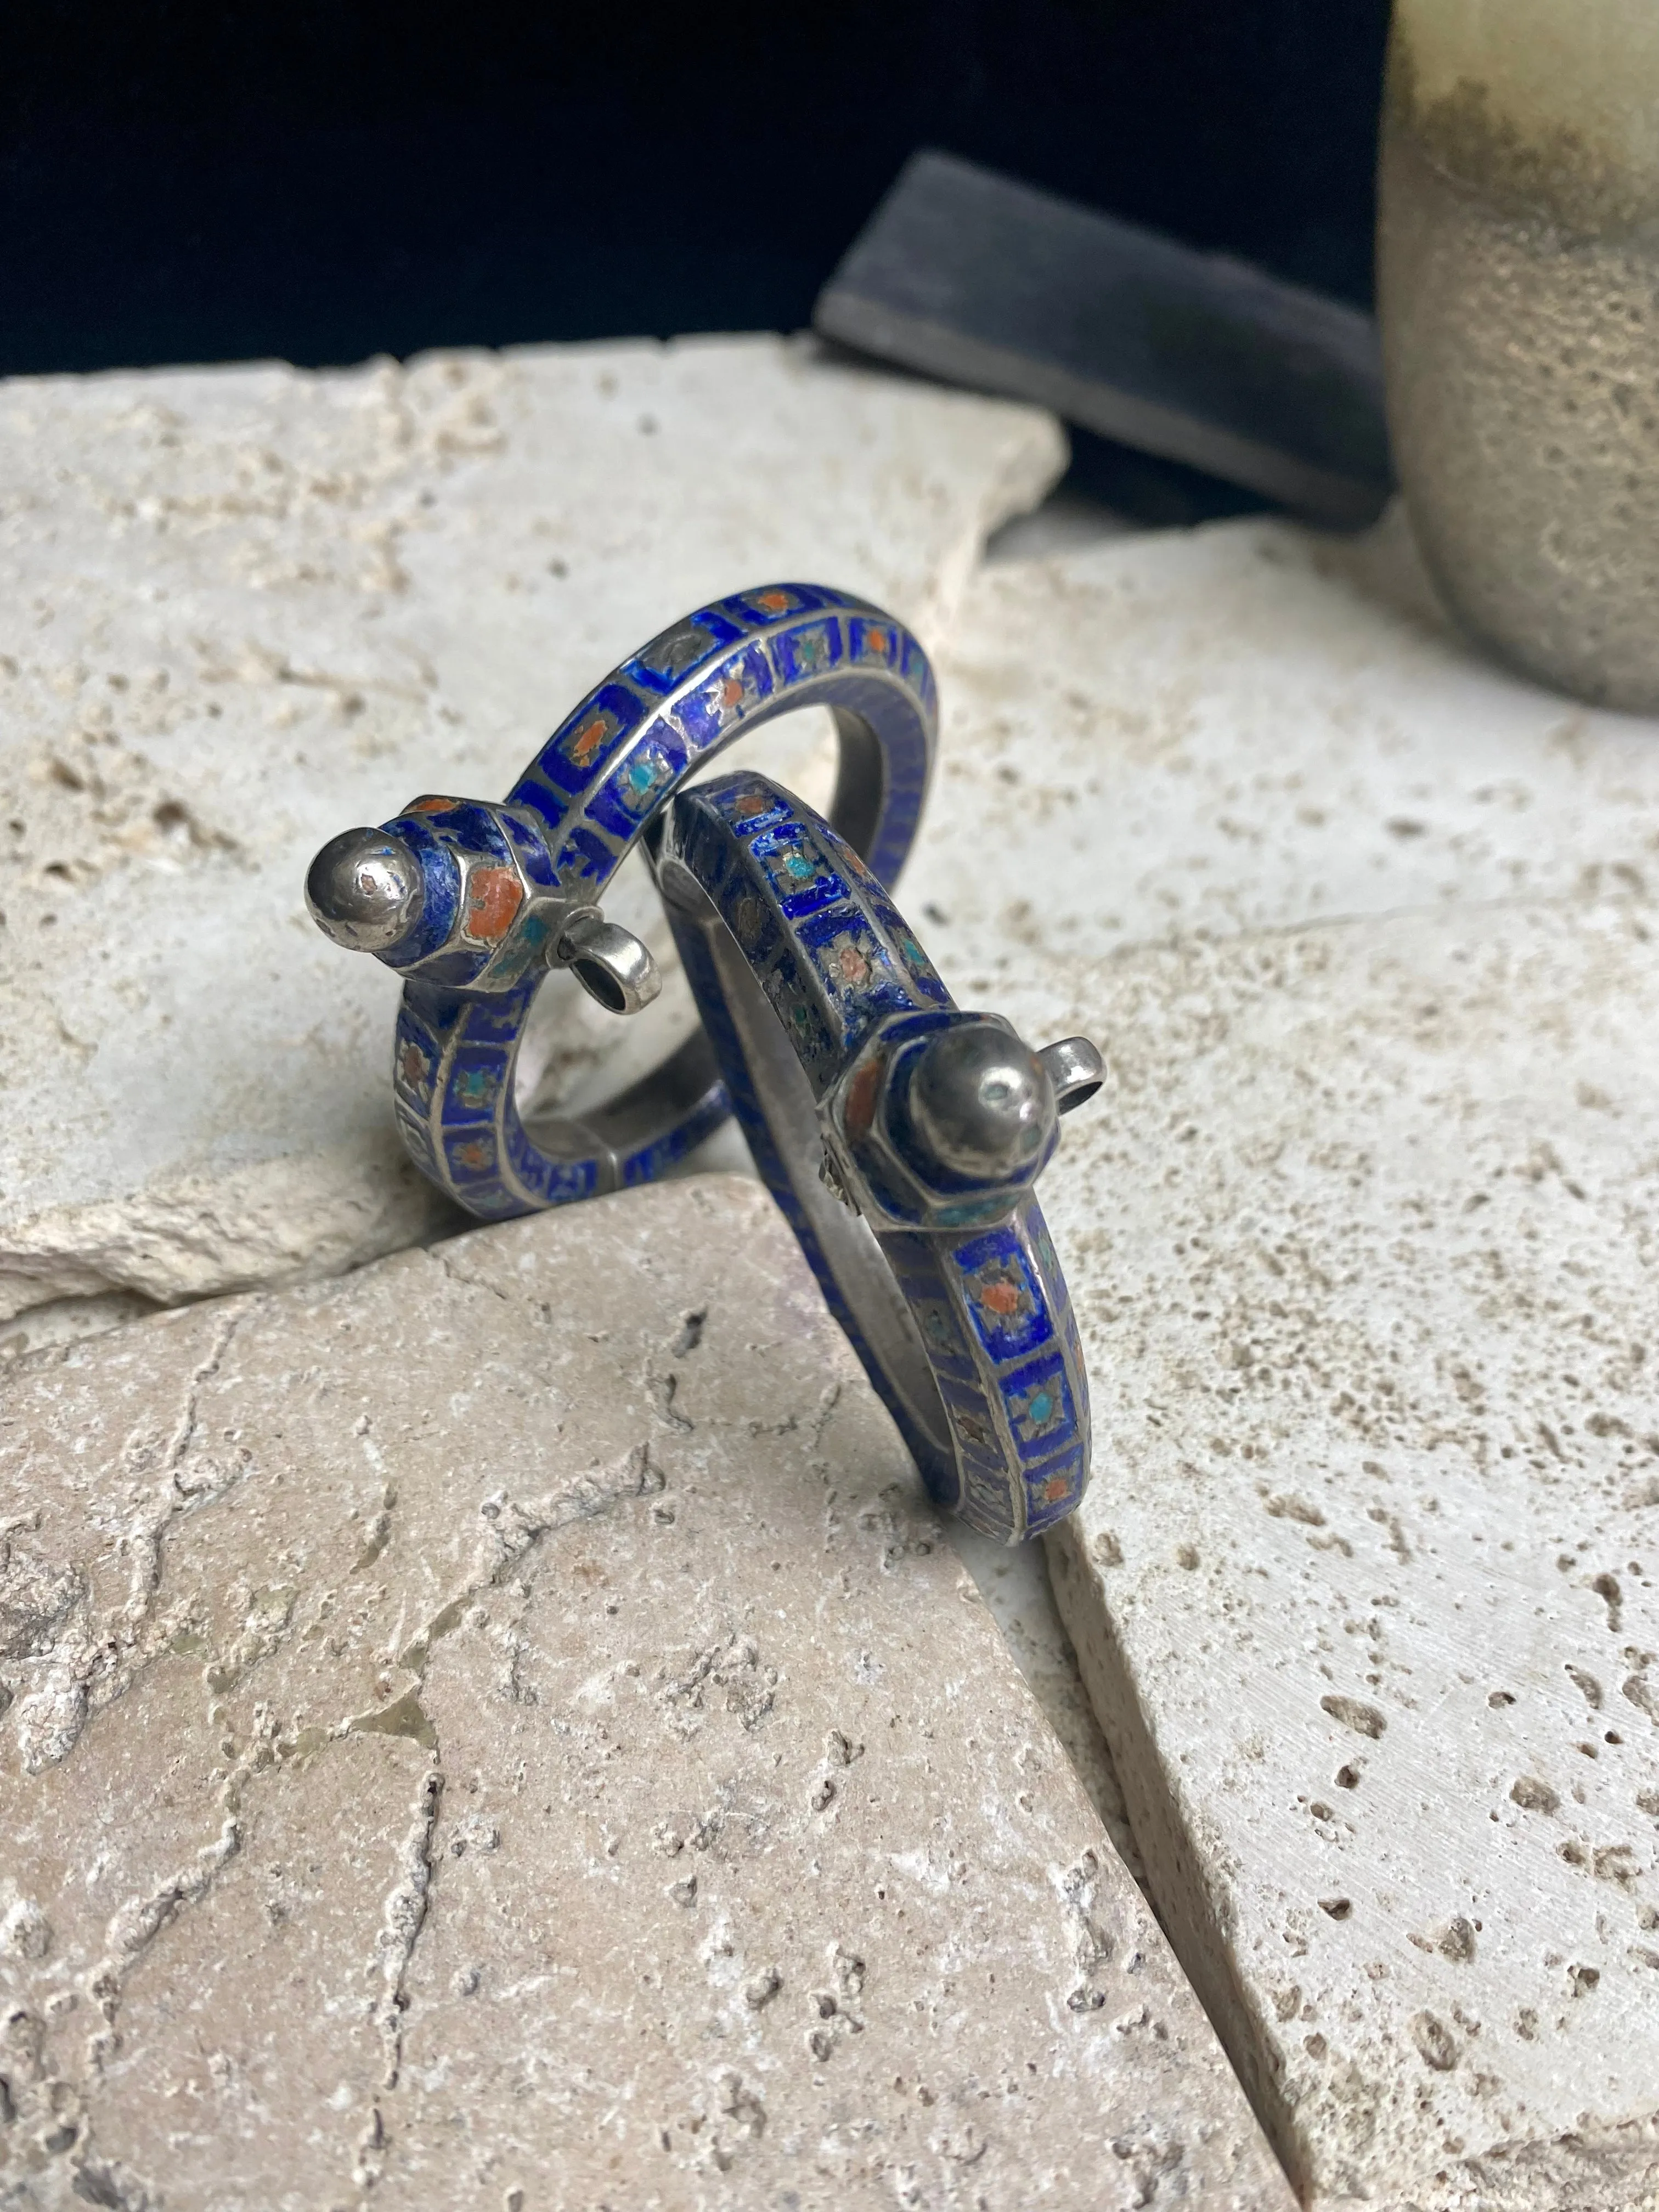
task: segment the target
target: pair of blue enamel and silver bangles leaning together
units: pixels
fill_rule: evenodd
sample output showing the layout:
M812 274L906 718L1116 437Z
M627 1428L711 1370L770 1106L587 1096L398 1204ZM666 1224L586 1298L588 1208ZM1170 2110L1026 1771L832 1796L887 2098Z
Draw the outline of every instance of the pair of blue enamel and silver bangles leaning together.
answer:
M684 787L799 706L834 717L830 821L757 774ZM739 593L613 670L507 801L425 796L347 830L305 894L327 936L403 975L398 1128L471 1214L653 1181L737 1108L929 1491L1020 1542L1088 1480L1082 1347L1033 1186L1099 1057L956 1009L891 905L936 730L927 655L880 608ZM571 969L613 1013L657 995L599 909L641 838L701 1029L604 1108L526 1128L515 1064L544 975Z

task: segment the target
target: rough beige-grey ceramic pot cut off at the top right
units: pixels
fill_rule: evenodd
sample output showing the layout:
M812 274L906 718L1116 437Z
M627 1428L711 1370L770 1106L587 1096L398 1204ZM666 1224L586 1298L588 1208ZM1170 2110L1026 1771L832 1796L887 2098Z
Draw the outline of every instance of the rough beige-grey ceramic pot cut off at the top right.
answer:
M1396 0L1378 305L1451 611L1659 712L1659 0Z

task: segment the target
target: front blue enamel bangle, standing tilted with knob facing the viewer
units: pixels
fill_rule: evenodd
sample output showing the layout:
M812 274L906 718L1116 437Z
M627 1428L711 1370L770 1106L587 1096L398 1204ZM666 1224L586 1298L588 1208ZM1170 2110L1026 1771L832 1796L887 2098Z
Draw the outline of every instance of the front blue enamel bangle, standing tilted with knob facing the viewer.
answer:
M1051 1528L1088 1482L1088 1378L1033 1186L1099 1053L962 1013L765 776L681 792L650 843L754 1164L922 1480L1006 1544Z

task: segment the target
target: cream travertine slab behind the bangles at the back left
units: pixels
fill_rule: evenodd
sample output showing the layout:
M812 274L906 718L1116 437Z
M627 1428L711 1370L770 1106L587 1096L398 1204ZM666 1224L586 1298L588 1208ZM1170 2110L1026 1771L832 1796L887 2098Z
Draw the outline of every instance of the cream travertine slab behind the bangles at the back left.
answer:
M4 1318L431 1230L396 980L312 929L310 854L416 792L504 792L622 655L768 575L938 644L1064 440L719 338L15 380L0 456ZM648 1057L650 1024L575 1020L555 1075Z

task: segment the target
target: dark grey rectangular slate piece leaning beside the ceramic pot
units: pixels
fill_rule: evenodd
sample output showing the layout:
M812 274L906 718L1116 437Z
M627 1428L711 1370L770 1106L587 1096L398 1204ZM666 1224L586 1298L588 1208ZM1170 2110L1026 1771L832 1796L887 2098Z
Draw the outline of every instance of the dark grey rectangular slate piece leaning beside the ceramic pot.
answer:
M905 164L814 325L1321 522L1391 489L1371 316L953 155Z

